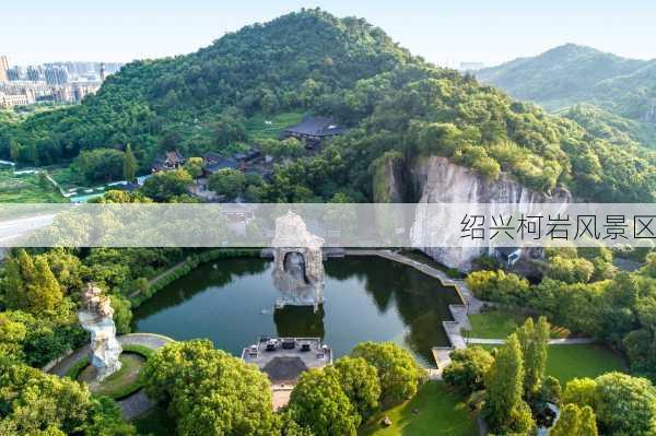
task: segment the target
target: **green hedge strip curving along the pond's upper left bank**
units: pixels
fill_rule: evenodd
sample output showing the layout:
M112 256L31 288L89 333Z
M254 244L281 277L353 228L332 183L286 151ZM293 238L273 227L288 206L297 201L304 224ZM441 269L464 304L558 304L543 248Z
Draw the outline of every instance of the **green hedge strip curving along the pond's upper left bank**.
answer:
M249 258L249 257L259 257L260 250L254 248L245 248L245 249L224 249L216 248L213 250L208 250L201 252L199 255L191 255L185 260L183 263L178 264L176 268L171 269L155 282L151 283L149 287L142 292L141 294L130 298L132 303L132 308L141 306L143 302L153 296L156 292L162 290L167 284L176 281L177 279L187 275L194 269L196 269L199 264L211 262L212 260L219 259L233 259L233 258Z

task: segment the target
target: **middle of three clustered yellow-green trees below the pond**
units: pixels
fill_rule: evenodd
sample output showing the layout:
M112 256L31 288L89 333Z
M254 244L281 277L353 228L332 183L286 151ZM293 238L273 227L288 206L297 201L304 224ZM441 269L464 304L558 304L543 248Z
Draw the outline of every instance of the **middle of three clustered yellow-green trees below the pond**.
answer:
M356 409L362 421L366 421L378 409L380 397L378 372L364 358L344 356L338 358L332 367L325 370L335 373L343 392Z

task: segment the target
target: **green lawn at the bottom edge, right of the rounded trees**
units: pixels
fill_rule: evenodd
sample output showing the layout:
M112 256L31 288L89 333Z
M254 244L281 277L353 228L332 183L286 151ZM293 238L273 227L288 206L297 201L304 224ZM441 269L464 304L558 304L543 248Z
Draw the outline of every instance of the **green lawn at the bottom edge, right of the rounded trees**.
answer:
M476 435L477 426L464 399L443 382L429 381L410 401L376 415L363 426L361 436L465 436ZM419 412L419 413L413 413ZM391 425L380 421L389 416Z

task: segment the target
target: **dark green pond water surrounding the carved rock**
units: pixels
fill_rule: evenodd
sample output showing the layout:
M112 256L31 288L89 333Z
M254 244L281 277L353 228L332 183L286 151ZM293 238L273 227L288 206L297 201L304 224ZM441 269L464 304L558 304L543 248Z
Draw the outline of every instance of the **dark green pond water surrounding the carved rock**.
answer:
M324 262L325 303L273 310L272 263L229 259L206 263L136 310L136 331L178 340L208 338L241 355L259 335L320 337L336 357L363 341L394 341L433 366L431 347L446 345L443 320L456 291L413 268L378 257Z

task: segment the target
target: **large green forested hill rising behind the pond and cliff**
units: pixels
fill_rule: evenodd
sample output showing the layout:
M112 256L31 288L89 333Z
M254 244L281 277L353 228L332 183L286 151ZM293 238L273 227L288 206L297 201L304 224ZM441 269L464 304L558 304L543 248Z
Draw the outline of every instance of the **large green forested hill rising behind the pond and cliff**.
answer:
M129 143L145 166L163 150L248 143L249 119L292 111L330 115L351 130L320 155L279 167L261 200L371 200L377 160L421 154L490 178L507 172L546 192L559 184L607 201L656 192L655 156L631 137L549 116L411 56L364 20L318 10L245 27L195 54L128 64L80 106L0 121L0 156L47 164Z

